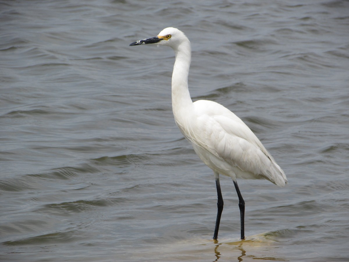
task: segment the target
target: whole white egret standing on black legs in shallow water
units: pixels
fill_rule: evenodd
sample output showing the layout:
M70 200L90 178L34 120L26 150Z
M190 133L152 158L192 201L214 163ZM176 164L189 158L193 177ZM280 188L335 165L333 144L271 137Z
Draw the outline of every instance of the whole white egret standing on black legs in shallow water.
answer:
M244 240L245 202L236 179L267 179L283 187L287 183L285 173L251 129L233 112L213 101L199 100L193 103L188 90L191 45L182 31L168 27L156 37L139 40L130 45L153 43L170 46L174 51L174 120L183 136L191 142L196 154L213 170L215 176L218 212L213 238L217 239L223 210L219 181L219 174L222 174L230 176L234 182L239 198L241 239Z

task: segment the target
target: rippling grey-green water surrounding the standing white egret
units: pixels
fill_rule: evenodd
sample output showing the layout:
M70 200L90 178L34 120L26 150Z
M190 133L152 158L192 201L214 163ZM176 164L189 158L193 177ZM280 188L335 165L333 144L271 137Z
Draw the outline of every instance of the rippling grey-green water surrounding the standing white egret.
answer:
M2 1L2 261L347 261L348 1ZM177 129L177 27L193 100L223 104L289 184L239 180L218 242L213 173Z

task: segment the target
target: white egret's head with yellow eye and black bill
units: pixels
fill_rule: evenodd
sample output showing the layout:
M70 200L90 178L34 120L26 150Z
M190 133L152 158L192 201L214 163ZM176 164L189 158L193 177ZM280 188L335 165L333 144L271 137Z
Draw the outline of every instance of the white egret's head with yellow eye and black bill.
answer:
M168 27L162 30L157 36L138 40L130 45L157 44L167 45L175 49L180 43L188 40L184 33L177 28Z

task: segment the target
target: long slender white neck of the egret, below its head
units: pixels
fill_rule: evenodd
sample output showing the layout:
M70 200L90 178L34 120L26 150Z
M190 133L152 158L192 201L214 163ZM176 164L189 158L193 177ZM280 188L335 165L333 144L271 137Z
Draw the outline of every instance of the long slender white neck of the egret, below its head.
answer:
M189 40L186 40L174 49L176 60L172 73L172 110L177 124L180 121L180 115L193 103L188 90L192 51Z

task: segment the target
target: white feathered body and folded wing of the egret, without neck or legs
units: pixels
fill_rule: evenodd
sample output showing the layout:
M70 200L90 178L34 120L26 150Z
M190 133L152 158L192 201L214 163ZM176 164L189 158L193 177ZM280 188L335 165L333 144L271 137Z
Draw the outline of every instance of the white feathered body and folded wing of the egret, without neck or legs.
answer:
M230 171L238 177L265 178L277 185L285 185L287 179L282 169L240 118L213 101L199 100L193 107L188 122L177 125L194 144L194 149L195 145L199 146L213 154L217 163L228 163ZM207 156L198 155L208 166L214 165ZM230 175L228 170L224 175Z

